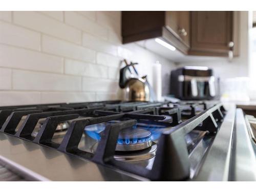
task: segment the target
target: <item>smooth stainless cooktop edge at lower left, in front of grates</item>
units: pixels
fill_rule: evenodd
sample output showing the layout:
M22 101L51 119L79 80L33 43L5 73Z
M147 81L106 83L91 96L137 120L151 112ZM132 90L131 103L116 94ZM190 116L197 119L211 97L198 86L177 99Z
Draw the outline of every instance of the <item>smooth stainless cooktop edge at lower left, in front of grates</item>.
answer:
M0 161L9 169L20 171L31 179L39 180L41 177L41 180L46 178L45 180L50 181L148 181L147 178L104 167L12 135L0 133L0 137Z

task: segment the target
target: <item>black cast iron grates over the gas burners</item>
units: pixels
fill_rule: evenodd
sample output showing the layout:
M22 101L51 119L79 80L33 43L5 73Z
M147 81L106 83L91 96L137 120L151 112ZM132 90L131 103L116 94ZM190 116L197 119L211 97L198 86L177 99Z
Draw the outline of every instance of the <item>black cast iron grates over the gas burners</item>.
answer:
M102 101L7 106L0 108L0 132L151 180L184 180L189 177L185 135L195 129L215 134L224 115L225 110L221 104L209 107L204 102ZM23 116L26 116L25 121L17 127ZM77 119L79 116L90 118ZM166 120L167 116L169 119ZM41 118L46 120L36 137L33 137L32 132ZM182 122L182 118L188 120ZM61 143L53 142L57 125L69 120L73 122ZM85 127L115 120L120 122L105 127L94 154L79 150L78 144ZM114 158L119 133L135 126L137 122L172 126L172 129L160 134L152 169Z

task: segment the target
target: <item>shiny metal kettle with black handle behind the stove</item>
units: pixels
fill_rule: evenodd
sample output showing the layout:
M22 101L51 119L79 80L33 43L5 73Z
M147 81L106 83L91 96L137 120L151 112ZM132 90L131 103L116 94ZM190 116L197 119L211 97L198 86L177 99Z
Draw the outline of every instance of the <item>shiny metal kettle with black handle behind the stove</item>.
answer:
M150 88L146 83L146 76L127 77L129 72L131 73L130 66L127 65L120 70L119 86L124 90L124 99L127 101L150 101Z

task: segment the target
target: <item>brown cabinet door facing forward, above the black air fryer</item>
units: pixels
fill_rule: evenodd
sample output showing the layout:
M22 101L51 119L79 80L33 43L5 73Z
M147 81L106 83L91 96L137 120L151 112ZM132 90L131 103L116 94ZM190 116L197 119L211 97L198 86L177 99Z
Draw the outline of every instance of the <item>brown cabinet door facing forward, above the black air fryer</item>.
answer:
M226 56L232 41L231 11L191 12L190 55Z

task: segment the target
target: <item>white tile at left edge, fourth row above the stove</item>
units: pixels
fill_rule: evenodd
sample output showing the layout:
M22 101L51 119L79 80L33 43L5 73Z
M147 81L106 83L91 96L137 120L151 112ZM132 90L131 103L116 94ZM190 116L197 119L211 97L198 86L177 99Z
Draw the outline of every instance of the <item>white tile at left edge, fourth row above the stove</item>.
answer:
M40 33L0 22L0 43L40 50Z

